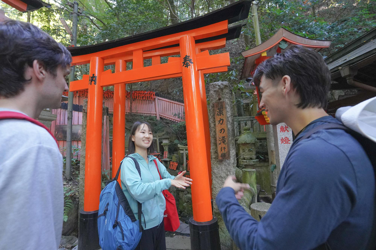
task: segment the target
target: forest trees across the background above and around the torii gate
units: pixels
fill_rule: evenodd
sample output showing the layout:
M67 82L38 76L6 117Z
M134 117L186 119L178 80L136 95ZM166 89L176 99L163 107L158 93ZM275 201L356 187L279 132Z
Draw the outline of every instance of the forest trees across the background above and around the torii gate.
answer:
M45 0L51 8L30 13L30 22L39 26L58 42L71 45L70 35L59 18L71 27L72 2ZM227 6L234 0L76 0L79 6L77 46L107 42L162 28L205 15ZM0 9L9 18L26 21L22 13L0 1ZM323 56L343 47L376 27L376 0L260 0L258 19L262 42L281 27L310 39L331 40ZM225 73L206 76L206 83L230 82L234 90L243 89L239 79L244 59L240 52L256 46L250 14L239 39L227 42L226 48L211 53L230 52L231 66ZM113 66L108 66L112 68ZM114 69L113 69L114 70ZM89 66L76 67L75 79L88 74ZM152 90L183 99L181 78L140 84L127 84L133 90ZM131 86L132 85L132 86ZM109 87L110 89L112 87ZM132 89L131 89L132 90Z

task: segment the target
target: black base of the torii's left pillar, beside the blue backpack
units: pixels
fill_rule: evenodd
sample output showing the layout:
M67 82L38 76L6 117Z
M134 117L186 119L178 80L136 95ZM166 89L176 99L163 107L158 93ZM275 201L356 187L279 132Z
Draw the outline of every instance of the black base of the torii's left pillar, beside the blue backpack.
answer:
M98 250L98 210L80 211L80 227L78 229L78 250Z

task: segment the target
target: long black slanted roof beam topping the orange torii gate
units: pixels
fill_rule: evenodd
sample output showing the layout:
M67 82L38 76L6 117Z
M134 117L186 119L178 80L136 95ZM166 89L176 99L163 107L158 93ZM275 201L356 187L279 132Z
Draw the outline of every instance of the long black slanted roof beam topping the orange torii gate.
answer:
M153 38L159 38L179 32L185 32L192 29L204 27L221 21L228 21L229 24L241 21L248 18L249 9L251 7L250 0L241 0L226 7L215 10L209 14L201 17L197 17L188 21L180 22L174 25L170 25L164 28L156 29L153 31L141 33L134 36L129 36L121 39L117 39L109 42L102 42L94 45L79 46L79 47L68 47L71 55L81 56L86 54L95 53L98 51L104 51L107 49L116 48L119 46L146 41ZM231 40L238 38L241 31L241 25L236 25L229 28L227 34L220 36L210 37L206 39L197 40L196 42L207 42L214 41L219 38L226 38L226 40Z

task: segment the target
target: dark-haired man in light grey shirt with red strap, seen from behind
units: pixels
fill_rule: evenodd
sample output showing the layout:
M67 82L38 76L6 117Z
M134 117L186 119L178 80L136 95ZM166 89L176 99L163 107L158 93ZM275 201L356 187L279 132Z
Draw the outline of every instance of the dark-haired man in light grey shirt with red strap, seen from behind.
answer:
M63 159L36 118L59 108L71 54L38 27L0 22L0 249L58 249Z

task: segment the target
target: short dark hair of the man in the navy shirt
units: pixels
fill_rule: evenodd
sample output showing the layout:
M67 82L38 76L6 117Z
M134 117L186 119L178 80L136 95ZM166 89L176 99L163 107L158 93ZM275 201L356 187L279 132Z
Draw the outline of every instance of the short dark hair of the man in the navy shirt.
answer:
M300 96L298 107L327 107L330 71L319 53L303 46L292 46L260 63L253 81L259 86L262 76L280 80L285 75L291 78L292 87Z

